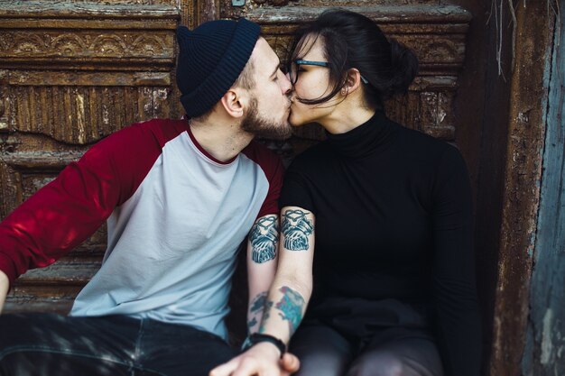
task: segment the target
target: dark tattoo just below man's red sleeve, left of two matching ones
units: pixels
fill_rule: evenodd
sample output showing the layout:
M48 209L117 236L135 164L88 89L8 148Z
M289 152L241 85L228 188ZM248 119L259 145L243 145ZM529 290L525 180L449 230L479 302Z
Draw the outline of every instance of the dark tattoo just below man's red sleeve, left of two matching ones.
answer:
M279 226L276 216L264 216L251 228L251 260L257 263L274 260L279 243Z

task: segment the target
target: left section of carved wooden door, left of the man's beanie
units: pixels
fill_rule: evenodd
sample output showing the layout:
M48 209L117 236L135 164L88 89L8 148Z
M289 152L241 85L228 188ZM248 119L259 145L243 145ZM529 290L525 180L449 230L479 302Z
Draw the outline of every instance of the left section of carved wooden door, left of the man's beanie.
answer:
M0 216L110 133L176 116L176 0L0 3ZM106 250L101 227L18 279L6 311L68 311Z

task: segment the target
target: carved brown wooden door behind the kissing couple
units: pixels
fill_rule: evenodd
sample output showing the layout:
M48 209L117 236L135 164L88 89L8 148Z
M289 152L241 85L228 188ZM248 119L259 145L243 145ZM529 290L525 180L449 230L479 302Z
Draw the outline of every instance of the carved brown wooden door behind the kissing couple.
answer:
M330 3L330 4L329 4ZM280 56L295 28L329 6L366 14L416 50L409 95L387 104L401 124L455 140L452 102L470 14L437 0L107 0L0 2L0 216L53 179L93 142L128 124L180 115L174 29L245 16ZM323 137L303 127L272 142L287 160ZM1 244L0 244L1 245ZM66 312L100 265L105 229L14 285L6 311ZM240 299L242 307L245 298ZM240 319L243 323L243 317Z

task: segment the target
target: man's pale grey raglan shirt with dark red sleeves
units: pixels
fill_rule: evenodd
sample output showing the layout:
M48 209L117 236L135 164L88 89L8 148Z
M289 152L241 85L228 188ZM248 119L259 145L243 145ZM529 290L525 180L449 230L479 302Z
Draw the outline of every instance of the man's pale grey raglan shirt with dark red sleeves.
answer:
M102 267L73 316L127 315L227 336L236 251L255 219L278 214L282 163L251 142L215 160L186 120L108 136L0 225L0 270L15 280L79 245L107 221Z

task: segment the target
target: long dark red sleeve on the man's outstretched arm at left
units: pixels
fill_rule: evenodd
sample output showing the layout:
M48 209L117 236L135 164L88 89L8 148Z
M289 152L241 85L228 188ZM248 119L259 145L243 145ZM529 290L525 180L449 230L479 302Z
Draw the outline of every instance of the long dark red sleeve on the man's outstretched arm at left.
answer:
M181 128L172 121L134 124L70 163L0 224L0 270L14 281L86 240L134 194L164 142Z

